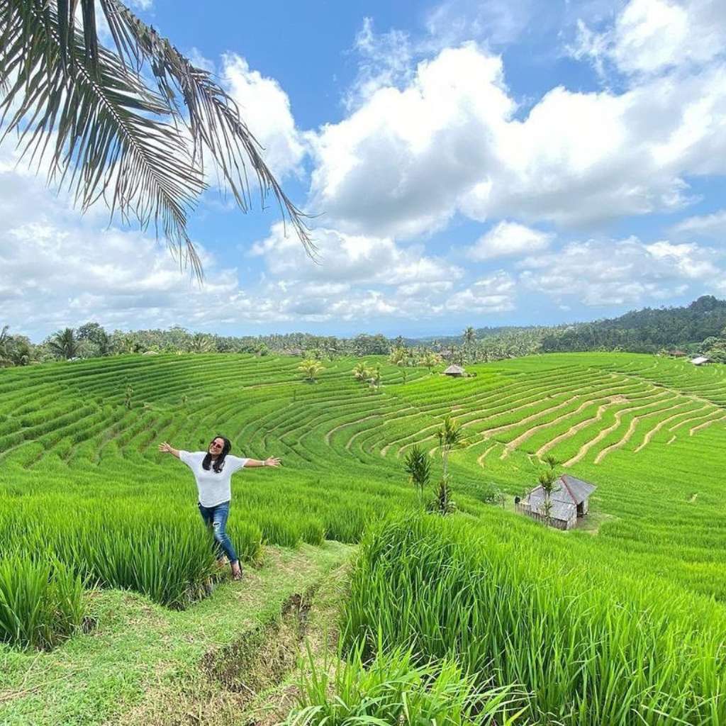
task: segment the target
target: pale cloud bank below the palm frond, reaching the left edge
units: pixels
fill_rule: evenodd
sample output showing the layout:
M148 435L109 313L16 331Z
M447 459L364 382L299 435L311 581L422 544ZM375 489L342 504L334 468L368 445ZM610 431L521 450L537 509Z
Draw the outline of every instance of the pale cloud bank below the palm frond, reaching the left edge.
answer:
M264 304L240 293L237 273L221 268L203 245L200 287L181 272L163 242L107 228L97 205L81 216L15 153L0 150L0 309L4 323L33 339L89 319L107 327L216 329L230 314L257 320ZM234 306L230 301L234 298Z

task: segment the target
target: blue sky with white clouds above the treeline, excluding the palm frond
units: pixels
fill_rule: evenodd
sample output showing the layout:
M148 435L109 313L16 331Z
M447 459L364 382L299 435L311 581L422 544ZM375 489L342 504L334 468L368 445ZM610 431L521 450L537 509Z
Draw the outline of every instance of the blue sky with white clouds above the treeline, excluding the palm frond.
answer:
M0 145L0 325L456 334L726 297L722 0L134 0L234 97L269 203L163 240Z

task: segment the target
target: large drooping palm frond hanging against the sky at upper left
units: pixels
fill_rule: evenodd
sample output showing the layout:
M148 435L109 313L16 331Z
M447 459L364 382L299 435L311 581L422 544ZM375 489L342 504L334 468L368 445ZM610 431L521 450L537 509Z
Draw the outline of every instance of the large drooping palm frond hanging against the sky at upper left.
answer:
M109 47L99 43L97 9ZM187 215L206 187L205 159L242 211L255 177L314 253L306 215L266 166L234 100L120 0L0 2L0 118L0 139L17 132L31 163L48 158L49 181L82 209L103 197L112 217L152 224L199 277Z

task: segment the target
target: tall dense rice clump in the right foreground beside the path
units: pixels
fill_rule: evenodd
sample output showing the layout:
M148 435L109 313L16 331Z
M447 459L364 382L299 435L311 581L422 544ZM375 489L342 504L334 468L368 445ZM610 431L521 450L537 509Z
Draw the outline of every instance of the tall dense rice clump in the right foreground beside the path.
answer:
M368 659L403 643L475 680L520 683L534 720L726 722L720 606L663 583L656 602L642 573L563 566L557 537L540 529L537 550L462 520L378 528L356 563L346 644Z

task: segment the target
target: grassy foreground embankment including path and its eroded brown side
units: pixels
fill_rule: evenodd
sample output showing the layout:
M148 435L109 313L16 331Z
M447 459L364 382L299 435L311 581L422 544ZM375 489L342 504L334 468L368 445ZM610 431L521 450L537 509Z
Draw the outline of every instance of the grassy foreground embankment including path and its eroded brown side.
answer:
M268 547L242 583L184 612L133 592L91 592L92 632L50 653L0 650L0 723L237 723L293 666L305 613L350 552Z

